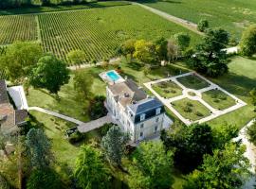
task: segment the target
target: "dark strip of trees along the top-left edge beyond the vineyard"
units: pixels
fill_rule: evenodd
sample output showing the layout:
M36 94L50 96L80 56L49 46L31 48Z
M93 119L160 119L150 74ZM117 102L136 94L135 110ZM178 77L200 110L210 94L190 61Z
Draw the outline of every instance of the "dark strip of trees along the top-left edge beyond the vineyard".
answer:
M93 0L96 2L97 0ZM18 9L33 6L52 6L52 5L77 5L83 4L87 0L1 0L0 9Z

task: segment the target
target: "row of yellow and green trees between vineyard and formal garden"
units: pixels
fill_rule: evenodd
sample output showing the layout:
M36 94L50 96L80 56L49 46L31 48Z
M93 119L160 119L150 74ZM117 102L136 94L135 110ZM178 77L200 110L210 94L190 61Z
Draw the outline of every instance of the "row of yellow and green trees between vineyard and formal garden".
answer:
M170 40L160 38L155 42L145 40L128 40L122 43L117 52L126 58L155 64L161 60L174 61L182 57L191 43L191 37L187 33L177 33Z

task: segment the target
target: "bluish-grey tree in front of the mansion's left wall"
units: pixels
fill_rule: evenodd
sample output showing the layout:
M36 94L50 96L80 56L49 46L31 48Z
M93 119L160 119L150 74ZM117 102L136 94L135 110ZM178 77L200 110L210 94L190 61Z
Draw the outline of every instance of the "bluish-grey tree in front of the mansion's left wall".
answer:
M106 158L117 165L121 164L121 158L124 155L124 149L129 141L129 136L114 126L108 130L107 134L102 138L101 147Z

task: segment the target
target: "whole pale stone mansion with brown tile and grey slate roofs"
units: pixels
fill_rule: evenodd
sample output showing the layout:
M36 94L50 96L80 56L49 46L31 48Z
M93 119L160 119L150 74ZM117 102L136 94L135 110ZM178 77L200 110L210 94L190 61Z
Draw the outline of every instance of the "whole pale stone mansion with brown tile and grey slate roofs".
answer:
M149 97L132 79L106 87L106 104L122 131L136 143L159 134L165 109L155 97Z

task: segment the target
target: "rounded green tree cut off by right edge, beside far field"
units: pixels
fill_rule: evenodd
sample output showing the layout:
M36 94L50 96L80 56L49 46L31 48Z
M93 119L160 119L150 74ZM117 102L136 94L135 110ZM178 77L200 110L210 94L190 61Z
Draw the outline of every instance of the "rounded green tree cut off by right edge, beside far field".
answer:
M251 57L256 53L256 25L248 26L240 42L241 53Z

